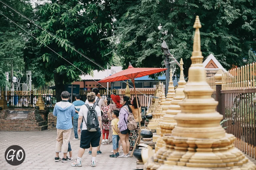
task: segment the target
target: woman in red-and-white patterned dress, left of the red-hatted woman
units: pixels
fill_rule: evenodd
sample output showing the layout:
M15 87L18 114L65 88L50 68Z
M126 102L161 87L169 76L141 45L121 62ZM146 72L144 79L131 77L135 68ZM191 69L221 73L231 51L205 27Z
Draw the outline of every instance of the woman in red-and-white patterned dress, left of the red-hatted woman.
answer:
M110 98L108 96L104 99L105 106L101 106L101 110L103 112L103 117L108 119L108 109L110 105ZM109 121L103 122L102 121L102 142L108 142L108 136L109 136ZM106 139L105 139L106 134Z

